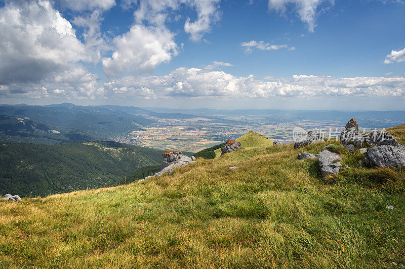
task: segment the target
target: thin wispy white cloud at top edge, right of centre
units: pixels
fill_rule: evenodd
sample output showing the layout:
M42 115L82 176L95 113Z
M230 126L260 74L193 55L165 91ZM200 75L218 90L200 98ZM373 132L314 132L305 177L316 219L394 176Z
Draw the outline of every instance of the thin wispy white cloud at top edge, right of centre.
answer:
M294 5L301 21L307 24L310 32L313 32L316 27L316 16L322 4L326 7L333 6L334 0L269 0L268 8L285 14L287 7Z

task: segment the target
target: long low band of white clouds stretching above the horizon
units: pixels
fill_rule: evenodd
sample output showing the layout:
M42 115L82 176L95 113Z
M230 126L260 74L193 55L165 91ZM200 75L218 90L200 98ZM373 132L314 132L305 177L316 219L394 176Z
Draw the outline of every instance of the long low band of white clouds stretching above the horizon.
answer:
M236 77L223 71L178 68L166 76L119 78L104 88L110 98L405 96L405 78L294 75L267 81L253 75Z

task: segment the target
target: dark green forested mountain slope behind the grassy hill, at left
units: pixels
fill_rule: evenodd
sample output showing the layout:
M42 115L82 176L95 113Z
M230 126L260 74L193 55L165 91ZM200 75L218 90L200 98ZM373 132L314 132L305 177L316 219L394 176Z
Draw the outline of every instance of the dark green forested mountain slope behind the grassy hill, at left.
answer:
M137 168L160 165L161 153L117 142L1 142L0 194L36 196L111 186Z

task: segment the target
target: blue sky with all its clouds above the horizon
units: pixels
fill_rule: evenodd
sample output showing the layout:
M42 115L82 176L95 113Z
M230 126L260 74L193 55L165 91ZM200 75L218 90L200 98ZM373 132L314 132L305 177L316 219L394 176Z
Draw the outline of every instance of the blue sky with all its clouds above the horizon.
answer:
M405 110L402 0L0 0L0 103Z

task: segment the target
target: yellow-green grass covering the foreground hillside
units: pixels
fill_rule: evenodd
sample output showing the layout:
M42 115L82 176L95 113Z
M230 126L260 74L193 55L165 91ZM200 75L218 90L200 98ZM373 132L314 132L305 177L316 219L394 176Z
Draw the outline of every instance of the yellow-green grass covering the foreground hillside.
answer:
M297 154L328 144L239 150L141 184L2 202L0 267L405 265L404 171L360 169L342 149L342 174L322 179L317 160Z

